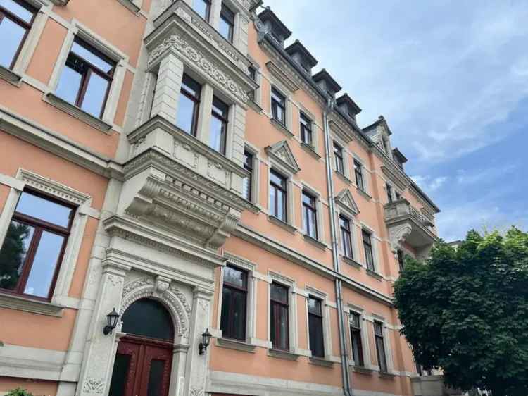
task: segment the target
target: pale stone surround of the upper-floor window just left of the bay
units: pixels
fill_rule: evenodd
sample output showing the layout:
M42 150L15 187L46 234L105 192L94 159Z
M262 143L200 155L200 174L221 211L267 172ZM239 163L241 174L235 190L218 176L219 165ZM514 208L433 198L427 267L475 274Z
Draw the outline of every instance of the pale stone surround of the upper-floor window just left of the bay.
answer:
M49 91L44 92L44 100L51 103L49 99L47 99L47 95L56 94L55 92L57 89L57 85L59 80L61 79L61 75L63 69L65 68L66 60L68 59L68 55L70 54L70 50L75 37L79 37L84 42L91 45L95 49L101 51L101 53L115 61L115 71L110 85L110 90L108 91L108 97L106 98L103 116L100 119L92 115L79 116L71 112L69 113L79 118L80 120L83 120L84 122L89 122L87 121L87 118L95 118L97 120L101 120L103 123L113 126L114 129L120 130L119 127L115 128L114 118L115 113L118 109L119 98L122 91L123 81L125 80L126 71L127 69L132 69L132 67L129 65L129 56L124 52L120 51L120 49L111 44L111 42L108 42L106 39L103 39L103 37L97 35L93 30L89 29L89 27L86 27L78 20L73 20L70 27L68 28L68 33L63 41L61 51L57 56L54 70L51 73L51 77L49 79ZM73 108L77 109L77 106L75 106L74 104L70 105L73 106ZM80 111L82 113L85 113L82 110Z

